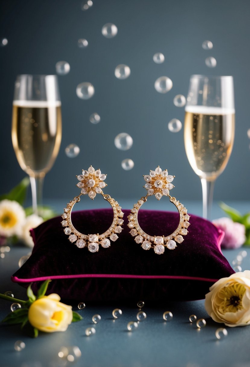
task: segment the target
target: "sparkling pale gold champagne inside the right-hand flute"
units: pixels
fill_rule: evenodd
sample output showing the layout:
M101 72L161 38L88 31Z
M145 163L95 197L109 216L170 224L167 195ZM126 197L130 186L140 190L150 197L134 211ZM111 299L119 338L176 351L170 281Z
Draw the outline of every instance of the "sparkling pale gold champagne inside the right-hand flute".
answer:
M227 166L234 143L235 110L187 106L184 143L195 173L213 181Z

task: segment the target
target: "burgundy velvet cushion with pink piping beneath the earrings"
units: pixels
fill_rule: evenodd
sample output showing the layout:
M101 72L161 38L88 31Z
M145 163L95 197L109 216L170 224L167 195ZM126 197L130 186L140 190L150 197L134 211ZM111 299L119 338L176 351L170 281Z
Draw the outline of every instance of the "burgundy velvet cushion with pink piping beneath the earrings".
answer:
M48 293L75 301L138 301L202 299L221 277L234 273L220 251L223 232L211 222L191 215L188 235L174 250L157 255L145 251L130 236L129 210L124 210L123 231L110 248L99 252L70 243L60 224L61 217L32 230L31 257L12 276L12 281L36 290L41 281L52 279ZM103 233L109 228L112 209L73 212L72 223L81 233ZM168 235L179 224L179 214L139 211L141 228L149 235Z

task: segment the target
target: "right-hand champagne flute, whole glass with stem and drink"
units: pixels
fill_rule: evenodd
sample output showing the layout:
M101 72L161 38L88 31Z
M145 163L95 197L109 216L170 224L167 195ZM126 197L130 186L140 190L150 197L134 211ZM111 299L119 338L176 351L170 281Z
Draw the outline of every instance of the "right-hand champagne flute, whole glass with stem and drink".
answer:
M184 143L188 161L201 178L203 218L210 218L216 178L234 144L232 76L192 75L185 107Z

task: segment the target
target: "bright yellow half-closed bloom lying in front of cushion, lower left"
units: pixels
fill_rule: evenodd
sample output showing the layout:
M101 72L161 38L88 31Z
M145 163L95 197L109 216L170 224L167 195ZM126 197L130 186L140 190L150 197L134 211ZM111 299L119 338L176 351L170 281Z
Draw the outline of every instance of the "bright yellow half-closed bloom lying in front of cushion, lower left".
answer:
M52 293L34 301L29 308L29 322L46 333L65 331L73 319L72 307L60 301L58 294Z

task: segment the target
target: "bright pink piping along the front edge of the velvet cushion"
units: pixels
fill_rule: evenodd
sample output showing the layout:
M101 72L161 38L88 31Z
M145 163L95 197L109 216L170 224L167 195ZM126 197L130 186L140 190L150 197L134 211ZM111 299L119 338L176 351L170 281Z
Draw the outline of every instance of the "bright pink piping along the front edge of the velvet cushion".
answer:
M12 276L11 280L14 283L29 283L31 281L42 281L47 279L76 279L76 278L123 278L123 279L187 279L187 280L201 280L208 282L216 282L218 279L191 277L191 276L176 276L176 275L130 275L130 274L76 274L76 275L52 275L41 276L36 278L19 279Z

